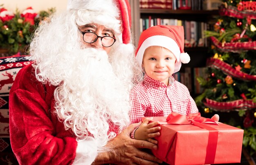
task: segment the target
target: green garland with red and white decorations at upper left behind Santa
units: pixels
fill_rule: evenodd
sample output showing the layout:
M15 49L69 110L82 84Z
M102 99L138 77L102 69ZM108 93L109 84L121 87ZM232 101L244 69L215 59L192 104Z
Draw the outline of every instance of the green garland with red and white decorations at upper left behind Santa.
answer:
M31 37L41 20L46 19L55 12L55 8L36 13L32 7L28 7L21 13L8 11L0 5L0 48L7 49L9 55L19 51L29 51Z

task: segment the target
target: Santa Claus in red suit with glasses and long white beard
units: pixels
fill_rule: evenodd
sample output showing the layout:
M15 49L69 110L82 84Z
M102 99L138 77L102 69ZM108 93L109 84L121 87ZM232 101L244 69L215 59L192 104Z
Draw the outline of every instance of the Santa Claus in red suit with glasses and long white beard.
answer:
M42 22L9 100L11 147L20 164L155 164L130 139L135 65L127 0L71 0ZM138 76L137 76L138 75Z

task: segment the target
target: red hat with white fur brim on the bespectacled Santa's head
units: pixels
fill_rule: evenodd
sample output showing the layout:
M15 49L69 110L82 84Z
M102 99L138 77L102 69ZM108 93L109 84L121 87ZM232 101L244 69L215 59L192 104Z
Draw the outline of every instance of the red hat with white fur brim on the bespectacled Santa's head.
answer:
M85 11L83 17L88 23L112 28L121 34L121 42L130 43L131 13L128 0L69 0L67 9ZM88 11L87 15L86 11ZM116 34L115 37L117 37Z

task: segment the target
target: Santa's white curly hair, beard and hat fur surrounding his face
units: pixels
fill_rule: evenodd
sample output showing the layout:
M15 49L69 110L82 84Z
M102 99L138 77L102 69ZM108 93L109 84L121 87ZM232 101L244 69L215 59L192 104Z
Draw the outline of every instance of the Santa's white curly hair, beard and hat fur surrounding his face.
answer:
M134 46L122 43L121 22L114 3L104 6L105 0L100 0L103 4L97 5L95 12L86 10L94 9L94 2L99 4L98 1L73 5L52 15L49 22L42 22L31 42L30 53L38 81L57 86L55 109L65 128L79 139L93 137L100 143L97 145L104 146L129 124L129 92L139 67L135 64ZM114 13L103 19L105 10L99 8ZM106 51L83 46L78 26L92 22L114 29L117 42L108 55ZM109 121L119 129L109 132Z

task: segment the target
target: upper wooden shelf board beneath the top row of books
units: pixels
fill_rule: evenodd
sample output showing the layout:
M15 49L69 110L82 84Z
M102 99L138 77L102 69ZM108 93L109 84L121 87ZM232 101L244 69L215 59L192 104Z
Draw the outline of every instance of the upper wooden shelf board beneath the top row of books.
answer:
M171 9L140 9L140 13L143 14L192 14L192 15L198 15L198 14L207 14L207 15L218 15L218 10L171 10Z

